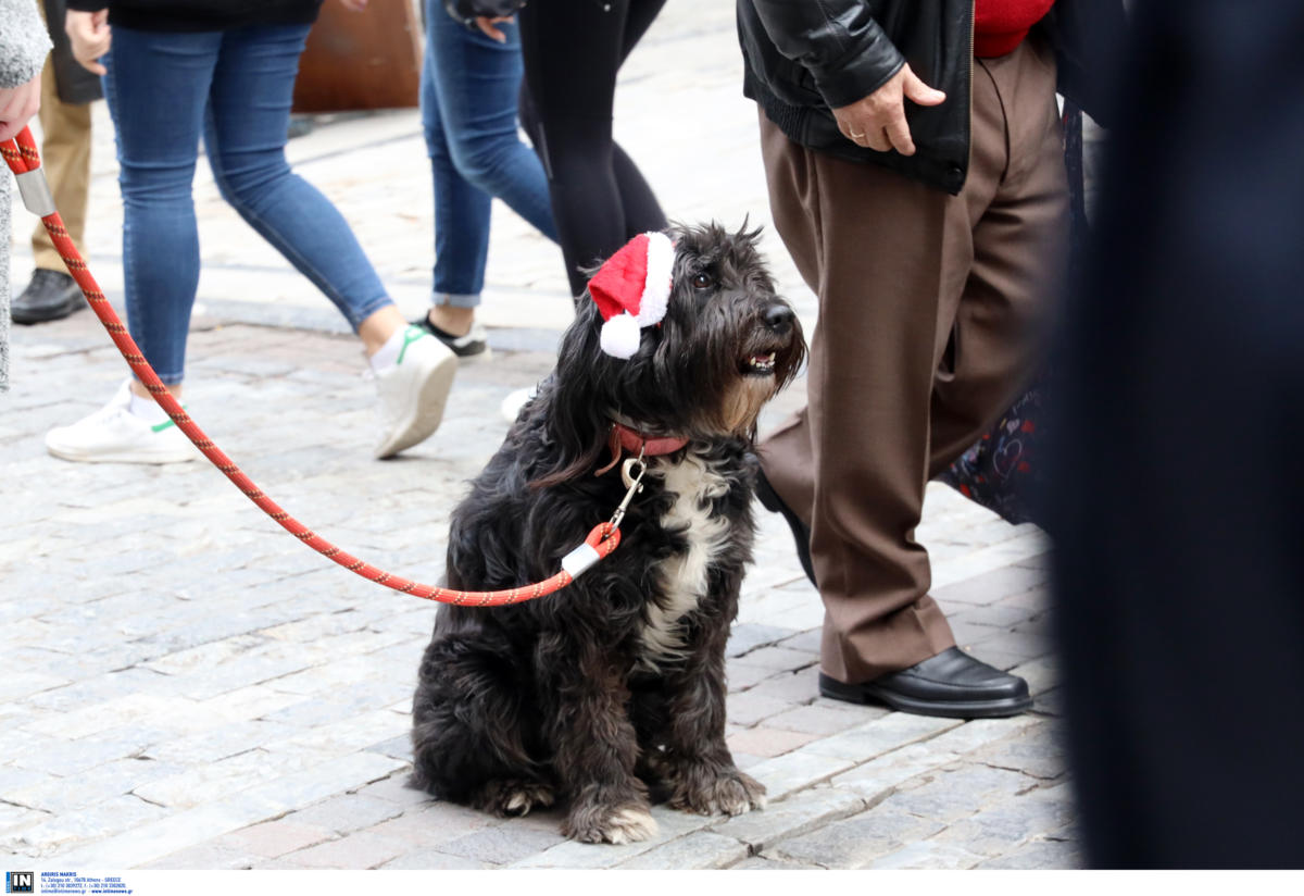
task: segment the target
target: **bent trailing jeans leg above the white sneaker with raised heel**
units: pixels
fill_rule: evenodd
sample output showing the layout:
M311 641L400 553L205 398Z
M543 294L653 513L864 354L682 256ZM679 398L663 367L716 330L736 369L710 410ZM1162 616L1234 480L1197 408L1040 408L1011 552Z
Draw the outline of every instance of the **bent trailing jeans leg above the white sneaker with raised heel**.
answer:
M308 30L288 25L223 33L203 142L222 196L357 330L393 301L344 217L286 162Z

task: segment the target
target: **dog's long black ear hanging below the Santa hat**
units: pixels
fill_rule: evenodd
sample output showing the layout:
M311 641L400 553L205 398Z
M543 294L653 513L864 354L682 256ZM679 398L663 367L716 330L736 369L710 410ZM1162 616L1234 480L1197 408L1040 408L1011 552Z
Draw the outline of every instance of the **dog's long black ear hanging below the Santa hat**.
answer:
M601 325L601 313L585 292L575 320L562 336L557 370L549 383L544 430L553 449L552 463L531 483L535 488L592 473L606 449L613 373L608 368L619 361L602 352L599 344Z

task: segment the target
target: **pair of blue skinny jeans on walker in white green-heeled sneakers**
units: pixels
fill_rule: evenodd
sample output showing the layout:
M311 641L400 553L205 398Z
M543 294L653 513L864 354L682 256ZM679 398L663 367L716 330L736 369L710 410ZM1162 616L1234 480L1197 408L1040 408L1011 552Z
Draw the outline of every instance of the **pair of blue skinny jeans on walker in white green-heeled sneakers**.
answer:
M335 206L286 162L308 25L170 34L113 27L104 95L123 190L126 317L167 385L181 382L200 283L192 183L201 134L222 197L348 318L393 304Z

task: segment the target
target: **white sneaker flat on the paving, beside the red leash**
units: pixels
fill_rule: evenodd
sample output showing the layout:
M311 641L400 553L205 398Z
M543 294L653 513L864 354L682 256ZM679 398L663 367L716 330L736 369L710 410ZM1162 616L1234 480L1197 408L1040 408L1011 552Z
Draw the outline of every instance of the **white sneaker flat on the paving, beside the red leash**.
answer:
M150 425L132 413L130 403L130 385L124 382L95 413L46 433L46 450L82 463L181 463L202 456L175 423Z

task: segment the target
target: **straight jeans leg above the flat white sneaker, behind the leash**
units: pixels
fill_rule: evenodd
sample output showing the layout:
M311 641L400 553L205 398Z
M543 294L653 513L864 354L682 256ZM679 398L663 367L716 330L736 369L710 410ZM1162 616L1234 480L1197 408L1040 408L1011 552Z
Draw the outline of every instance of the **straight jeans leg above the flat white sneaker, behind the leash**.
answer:
M123 273L132 338L167 385L185 374L200 283L190 185L219 31L163 34L115 26L104 59L123 190Z

